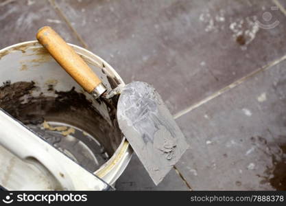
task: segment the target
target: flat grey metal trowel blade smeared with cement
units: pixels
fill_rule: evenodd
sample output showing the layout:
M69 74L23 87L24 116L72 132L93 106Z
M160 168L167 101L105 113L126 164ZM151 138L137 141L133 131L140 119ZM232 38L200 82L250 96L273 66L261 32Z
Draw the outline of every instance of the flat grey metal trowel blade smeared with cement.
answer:
M132 82L121 91L117 119L126 139L156 185L189 147L155 89Z

